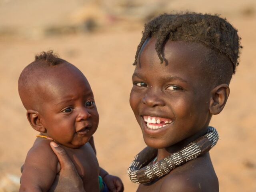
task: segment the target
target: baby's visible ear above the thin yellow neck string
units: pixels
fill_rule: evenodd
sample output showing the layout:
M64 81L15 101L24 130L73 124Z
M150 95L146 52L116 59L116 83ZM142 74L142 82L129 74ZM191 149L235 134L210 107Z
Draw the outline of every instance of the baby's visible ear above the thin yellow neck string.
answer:
M40 114L36 110L27 110L27 118L30 125L39 132L46 132L44 125L40 120Z

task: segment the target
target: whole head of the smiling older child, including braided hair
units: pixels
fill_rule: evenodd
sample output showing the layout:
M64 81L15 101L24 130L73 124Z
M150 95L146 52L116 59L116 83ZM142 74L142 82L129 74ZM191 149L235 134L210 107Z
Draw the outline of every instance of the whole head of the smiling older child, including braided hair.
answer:
M148 146L191 142L206 132L228 99L239 40L215 15L164 14L145 25L130 105Z

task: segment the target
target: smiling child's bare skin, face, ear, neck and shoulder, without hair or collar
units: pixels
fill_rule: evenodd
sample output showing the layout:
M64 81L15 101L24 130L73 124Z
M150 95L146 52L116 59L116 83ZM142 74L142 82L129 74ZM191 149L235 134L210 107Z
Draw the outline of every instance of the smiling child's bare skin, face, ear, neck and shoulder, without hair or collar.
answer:
M224 108L229 87L213 87L206 80L210 52L206 46L168 41L164 46L165 62L160 64L155 43L154 38L149 39L140 52L132 76L130 106L145 143L158 148L157 160L161 160L206 133L212 114ZM164 126L149 128L144 120L148 117L161 120L148 126ZM207 153L156 182L140 184L137 191L218 191L218 178Z

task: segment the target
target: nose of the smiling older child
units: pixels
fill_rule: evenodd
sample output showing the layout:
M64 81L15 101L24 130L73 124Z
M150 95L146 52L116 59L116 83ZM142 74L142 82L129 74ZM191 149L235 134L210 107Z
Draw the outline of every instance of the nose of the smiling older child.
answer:
M161 96L161 91L149 90L142 98L142 103L149 107L164 106L164 100Z

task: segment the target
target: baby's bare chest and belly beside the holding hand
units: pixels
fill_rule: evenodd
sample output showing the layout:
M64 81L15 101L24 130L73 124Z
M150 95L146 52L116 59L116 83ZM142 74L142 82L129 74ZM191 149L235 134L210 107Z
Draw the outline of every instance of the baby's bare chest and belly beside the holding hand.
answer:
M86 143L79 149L65 148L65 150L84 182L84 189L86 191L98 191L98 175L100 168L96 154L91 145Z

